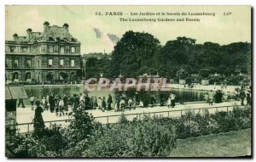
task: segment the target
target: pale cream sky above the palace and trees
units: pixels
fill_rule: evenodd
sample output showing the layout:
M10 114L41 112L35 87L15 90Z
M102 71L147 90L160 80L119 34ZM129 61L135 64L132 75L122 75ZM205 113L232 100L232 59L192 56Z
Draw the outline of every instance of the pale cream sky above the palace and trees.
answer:
M123 12L124 15L95 15L96 12ZM215 16L135 16L131 13L215 13ZM224 15L224 13L231 13ZM196 22L121 22L119 18L199 18ZM26 29L42 32L50 25L69 25L69 32L81 42L81 54L111 53L114 42L125 31L148 32L162 45L177 36L194 38L196 43L251 42L250 6L6 6L5 39L26 36ZM98 31L96 33L96 31ZM99 32L100 31L100 32ZM98 34L101 33L102 36Z

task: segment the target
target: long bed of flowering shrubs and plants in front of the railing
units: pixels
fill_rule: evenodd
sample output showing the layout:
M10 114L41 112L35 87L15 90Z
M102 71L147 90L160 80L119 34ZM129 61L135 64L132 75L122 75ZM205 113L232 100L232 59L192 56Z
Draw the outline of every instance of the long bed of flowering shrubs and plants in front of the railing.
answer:
M7 143L8 157L165 157L177 147L177 139L198 137L251 127L251 109L234 106L230 112L193 115L179 119L143 116L102 125L80 112L67 128L52 126L43 137L17 135ZM58 147L56 147L58 146Z

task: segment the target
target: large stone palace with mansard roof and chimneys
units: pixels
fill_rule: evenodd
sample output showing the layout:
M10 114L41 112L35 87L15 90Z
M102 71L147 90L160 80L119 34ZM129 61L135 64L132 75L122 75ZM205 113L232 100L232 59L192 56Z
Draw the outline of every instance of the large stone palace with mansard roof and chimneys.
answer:
M5 41L6 82L67 83L81 80L80 42L62 27L44 22L43 32L26 30Z

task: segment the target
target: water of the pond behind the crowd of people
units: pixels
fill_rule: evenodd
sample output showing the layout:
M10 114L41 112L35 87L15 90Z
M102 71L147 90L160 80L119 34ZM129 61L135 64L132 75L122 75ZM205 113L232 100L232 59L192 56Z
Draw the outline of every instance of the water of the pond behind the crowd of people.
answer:
M73 94L79 94L83 92L83 86L82 85L69 85L69 86L42 86L42 87L25 87L26 93L28 97L30 98L32 95L38 99L41 99L44 94L54 92L55 94L61 94L63 96L66 94L67 96L72 96ZM128 89L129 91L125 92L127 98L133 98L136 92L136 89ZM170 93L174 93L176 95L176 102L196 102L196 101L203 101L204 100L204 94L207 93L207 91L198 91L198 90L188 90L188 89L175 89L173 88L171 91L168 92L145 92L140 91L138 92L138 97L145 99L147 98L148 101L150 100L150 97L152 94L154 94L157 103L160 103L160 93L163 94L165 101L167 100ZM115 102L115 96L116 94L121 95L122 92L114 92L114 91L108 91L108 88L102 88L102 91L93 91L88 92L89 96L96 96L99 97L105 97L108 98L108 94L111 94L113 97L113 102ZM29 99L25 100L25 104L29 104Z

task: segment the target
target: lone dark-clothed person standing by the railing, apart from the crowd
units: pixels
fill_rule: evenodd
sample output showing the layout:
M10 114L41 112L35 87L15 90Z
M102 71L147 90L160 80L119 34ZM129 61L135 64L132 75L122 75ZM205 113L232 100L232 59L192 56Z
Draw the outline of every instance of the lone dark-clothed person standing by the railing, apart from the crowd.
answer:
M44 119L43 119L42 113L44 112L44 110L40 106L40 101L38 100L35 101L35 104L37 108L35 109L35 116L33 119L34 134L36 136L42 136L42 131L44 131Z

